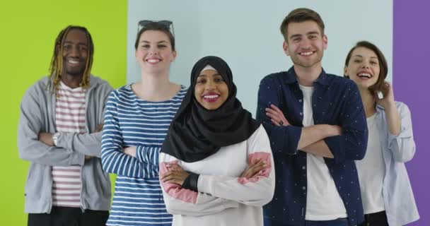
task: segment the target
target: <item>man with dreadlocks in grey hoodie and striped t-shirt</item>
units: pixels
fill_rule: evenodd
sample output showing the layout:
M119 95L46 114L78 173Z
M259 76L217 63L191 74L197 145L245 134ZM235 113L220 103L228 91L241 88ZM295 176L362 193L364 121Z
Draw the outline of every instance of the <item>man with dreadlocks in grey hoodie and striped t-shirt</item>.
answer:
M54 44L50 75L21 102L18 151L30 162L28 225L105 225L110 179L100 162L105 100L112 87L91 75L93 40L68 26Z

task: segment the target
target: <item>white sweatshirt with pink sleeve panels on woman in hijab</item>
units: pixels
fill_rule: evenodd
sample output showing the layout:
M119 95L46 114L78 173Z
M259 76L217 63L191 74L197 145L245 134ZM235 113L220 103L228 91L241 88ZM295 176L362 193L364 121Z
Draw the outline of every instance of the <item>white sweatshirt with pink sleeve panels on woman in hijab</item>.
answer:
M272 201L275 177L269 138L262 126L247 141L223 147L198 162L182 162L165 153L159 159L161 174L173 162L200 174L198 193L161 183L173 226L263 225L262 206ZM265 160L267 167L250 179L240 178L248 164L258 159Z

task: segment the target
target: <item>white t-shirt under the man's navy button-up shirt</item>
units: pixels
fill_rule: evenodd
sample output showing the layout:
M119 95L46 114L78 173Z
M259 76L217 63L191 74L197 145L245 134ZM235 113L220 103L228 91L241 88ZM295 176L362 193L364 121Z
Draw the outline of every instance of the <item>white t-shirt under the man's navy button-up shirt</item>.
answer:
M300 85L303 92L303 126L313 126L313 87ZM308 153L308 193L306 196L306 220L335 220L346 218L347 210L337 192L324 158Z

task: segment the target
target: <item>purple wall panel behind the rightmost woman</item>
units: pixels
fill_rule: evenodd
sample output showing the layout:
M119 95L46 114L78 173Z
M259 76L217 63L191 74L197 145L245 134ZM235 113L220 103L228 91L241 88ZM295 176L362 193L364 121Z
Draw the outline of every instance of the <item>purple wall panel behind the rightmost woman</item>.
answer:
M410 225L430 225L430 1L393 0L393 6L394 94L412 112L417 143L407 169L421 218Z

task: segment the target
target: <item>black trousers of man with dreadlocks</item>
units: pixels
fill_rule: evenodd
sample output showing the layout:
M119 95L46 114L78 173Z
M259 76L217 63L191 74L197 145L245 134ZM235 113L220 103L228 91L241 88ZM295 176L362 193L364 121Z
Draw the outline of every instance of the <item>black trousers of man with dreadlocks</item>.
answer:
M107 210L53 206L51 213L29 213L28 226L104 226L109 217Z

